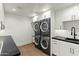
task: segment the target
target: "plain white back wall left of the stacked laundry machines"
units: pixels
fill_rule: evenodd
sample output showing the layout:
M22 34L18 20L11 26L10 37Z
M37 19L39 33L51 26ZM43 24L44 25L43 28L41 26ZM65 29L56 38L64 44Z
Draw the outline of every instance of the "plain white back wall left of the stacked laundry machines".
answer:
M5 13L5 32L12 35L18 46L32 43L31 20L27 17Z

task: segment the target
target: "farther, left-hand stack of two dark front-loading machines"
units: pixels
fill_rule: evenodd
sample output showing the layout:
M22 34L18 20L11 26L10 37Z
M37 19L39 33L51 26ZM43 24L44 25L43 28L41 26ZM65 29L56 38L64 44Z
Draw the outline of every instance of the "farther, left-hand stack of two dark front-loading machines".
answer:
M33 28L34 28L34 31L35 31L35 38L34 38L34 44L35 44L35 47L39 48L40 49L40 40L41 40L41 32L40 32L40 21L36 21L33 23Z

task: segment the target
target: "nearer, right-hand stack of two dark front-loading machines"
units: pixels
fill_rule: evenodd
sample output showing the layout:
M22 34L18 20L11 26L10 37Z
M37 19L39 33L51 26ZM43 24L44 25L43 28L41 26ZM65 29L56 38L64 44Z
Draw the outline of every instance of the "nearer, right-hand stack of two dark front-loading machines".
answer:
M41 41L42 51L50 55L50 18L41 20Z

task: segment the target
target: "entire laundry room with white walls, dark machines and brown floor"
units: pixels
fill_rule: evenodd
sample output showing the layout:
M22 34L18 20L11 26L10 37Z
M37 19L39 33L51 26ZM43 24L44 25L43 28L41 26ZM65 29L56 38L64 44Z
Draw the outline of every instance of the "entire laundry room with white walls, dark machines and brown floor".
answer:
M79 3L0 3L0 56L79 56Z

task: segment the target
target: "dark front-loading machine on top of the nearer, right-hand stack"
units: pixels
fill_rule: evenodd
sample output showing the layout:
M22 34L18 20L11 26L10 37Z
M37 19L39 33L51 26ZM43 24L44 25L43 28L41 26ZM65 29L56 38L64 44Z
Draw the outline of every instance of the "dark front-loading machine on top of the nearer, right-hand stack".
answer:
M41 20L40 29L41 35L50 36L50 18Z

